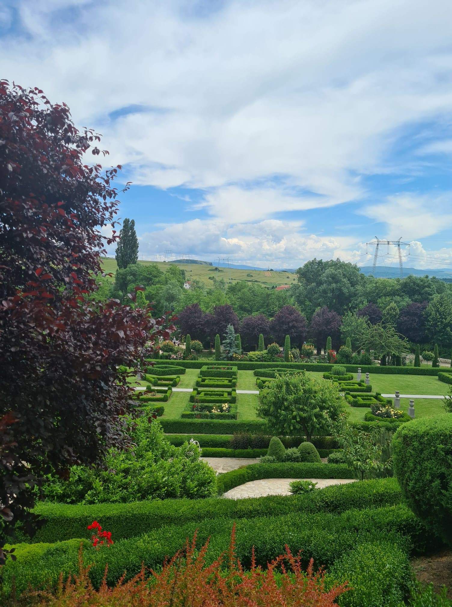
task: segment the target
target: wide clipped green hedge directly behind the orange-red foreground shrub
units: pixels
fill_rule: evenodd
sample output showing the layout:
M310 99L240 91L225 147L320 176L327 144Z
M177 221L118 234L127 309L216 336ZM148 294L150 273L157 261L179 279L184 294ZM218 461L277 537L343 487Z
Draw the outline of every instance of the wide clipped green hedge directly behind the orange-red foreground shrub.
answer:
M107 584L113 585L122 576L125 580L135 576L143 565L145 568L158 569L165 557L181 549L186 538L192 538L195 531L197 548L210 538L205 554L207 563L210 563L227 552L233 524L232 518L217 517L201 522L198 519L180 526L159 526L158 529L151 529L141 537L116 540L107 550L87 547L88 542L85 540L84 565L92 565L89 575L96 588L101 585L104 575ZM407 540L400 537L401 534ZM87 535L88 532L85 530L83 537ZM39 588L50 583L55 587L60 571L63 573L63 580L69 572L78 571L80 541L16 546L17 560L8 559L2 568L4 592L11 592L15 585L16 595L19 597L29 585ZM361 563L359 558L349 560L350 565L356 563L356 573L345 566L344 570L339 567L334 569L335 563L342 565L344 562L342 558L353 555L363 543L375 544L380 549L373 558L365 558L364 563ZM408 544L413 544L413 552L424 550L426 546L437 548L437 542L432 541L431 534L419 523L414 514L407 507L399 504L377 509L347 510L341 514L293 512L279 516L242 518L236 521L234 549L236 557L244 568L250 567L253 554L256 565L265 567L268 561L284 554L286 544L293 554L301 553L303 566L307 566L310 558L313 558L314 568L325 566L341 581L345 581L345 576L354 575L357 585L362 575L367 575L367 579L372 580L369 568L373 569L373 567L380 569L383 566L387 577L398 579L398 573L386 569L387 563L396 565L392 556L396 548L404 551L405 555L410 551ZM369 565L369 561L373 565ZM402 573L405 575L405 569ZM387 593L384 588L390 582L386 580L383 588L380 588L381 577L377 580L379 584L374 586L373 602L360 603L360 605L389 604L385 602ZM348 605L357 605L356 602L351 602L350 597L348 600Z

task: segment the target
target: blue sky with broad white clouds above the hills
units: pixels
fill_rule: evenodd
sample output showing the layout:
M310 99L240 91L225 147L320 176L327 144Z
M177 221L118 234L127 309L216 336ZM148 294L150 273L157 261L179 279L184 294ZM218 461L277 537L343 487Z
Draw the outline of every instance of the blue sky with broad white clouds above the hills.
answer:
M0 57L102 133L144 259L452 266L450 0L4 0Z

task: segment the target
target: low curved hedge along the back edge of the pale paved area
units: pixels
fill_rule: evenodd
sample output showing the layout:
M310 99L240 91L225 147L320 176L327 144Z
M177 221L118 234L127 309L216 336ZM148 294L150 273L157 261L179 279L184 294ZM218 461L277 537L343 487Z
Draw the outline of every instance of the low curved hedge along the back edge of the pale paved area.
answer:
M354 473L345 464L292 462L250 464L250 466L219 474L217 476L218 493L222 495L233 487L262 478L354 478Z

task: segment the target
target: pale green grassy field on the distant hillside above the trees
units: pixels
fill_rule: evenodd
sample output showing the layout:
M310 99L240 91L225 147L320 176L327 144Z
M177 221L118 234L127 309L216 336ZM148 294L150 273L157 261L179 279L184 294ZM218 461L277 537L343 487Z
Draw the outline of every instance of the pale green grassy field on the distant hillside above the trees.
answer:
M148 262L138 261L138 263L156 263L162 271L166 271L171 262ZM215 266L201 265L198 263L176 263L182 270L185 270L187 280L202 280L207 287L213 286L213 280L209 280L209 276L214 276L216 279L224 279L227 283L237 280L246 280L247 282L258 282L264 287L278 287L278 285L291 285L296 282L295 274L287 272L267 272L262 270L236 270L235 268L218 268L219 271L214 271ZM116 273L116 259L105 257L102 259L102 267L105 272ZM248 276L251 274L251 276ZM111 277L111 280L114 280Z

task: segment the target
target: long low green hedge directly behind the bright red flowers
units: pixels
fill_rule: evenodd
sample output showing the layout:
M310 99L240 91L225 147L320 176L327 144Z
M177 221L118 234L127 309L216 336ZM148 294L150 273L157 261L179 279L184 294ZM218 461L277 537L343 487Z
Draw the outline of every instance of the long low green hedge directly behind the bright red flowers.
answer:
M310 495L269 495L240 500L168 499L129 504L56 504L41 502L33 512L44 524L28 542L56 542L73 537L89 537L87 526L97 520L111 531L115 540L135 537L168 524L190 521L202 523L214 518L255 518L279 516L291 512L333 512L349 509L379 508L402 503L402 493L394 478L359 481L317 489Z

